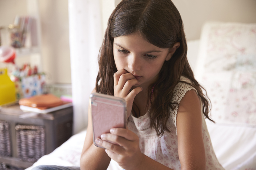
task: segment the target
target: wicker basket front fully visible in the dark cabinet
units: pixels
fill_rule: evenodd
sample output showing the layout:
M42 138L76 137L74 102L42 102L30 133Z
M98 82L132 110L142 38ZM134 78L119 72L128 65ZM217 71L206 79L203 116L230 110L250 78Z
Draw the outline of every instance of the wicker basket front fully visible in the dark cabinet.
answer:
M19 159L35 162L45 154L45 129L42 126L16 125Z

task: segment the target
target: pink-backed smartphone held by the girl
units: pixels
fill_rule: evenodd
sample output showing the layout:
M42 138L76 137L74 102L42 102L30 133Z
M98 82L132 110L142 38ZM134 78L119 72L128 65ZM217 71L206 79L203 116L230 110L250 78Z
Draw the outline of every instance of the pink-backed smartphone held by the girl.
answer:
M92 93L89 98L92 113L93 142L111 128L126 128L126 101L119 97Z

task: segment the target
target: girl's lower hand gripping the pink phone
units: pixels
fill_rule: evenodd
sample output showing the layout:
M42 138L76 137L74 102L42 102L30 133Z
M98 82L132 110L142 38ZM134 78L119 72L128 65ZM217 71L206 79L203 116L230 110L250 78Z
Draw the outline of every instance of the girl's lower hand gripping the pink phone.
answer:
M102 134L96 142L106 148L106 153L126 170L136 169L142 163L144 154L140 152L139 138L124 128L112 128L110 133ZM110 142L113 143L110 143Z

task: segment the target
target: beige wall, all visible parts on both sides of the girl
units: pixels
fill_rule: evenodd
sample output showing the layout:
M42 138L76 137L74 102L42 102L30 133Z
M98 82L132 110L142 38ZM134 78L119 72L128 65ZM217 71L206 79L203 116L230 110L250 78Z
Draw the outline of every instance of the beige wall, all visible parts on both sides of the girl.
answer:
M71 83L68 0L38 0L42 31L43 71L48 83ZM27 14L26 0L0 0L0 26ZM107 19L120 0L101 0L103 32ZM206 21L256 23L256 0L173 0L181 13L188 40L200 37ZM17 59L28 62L28 57ZM3 64L0 63L0 67Z

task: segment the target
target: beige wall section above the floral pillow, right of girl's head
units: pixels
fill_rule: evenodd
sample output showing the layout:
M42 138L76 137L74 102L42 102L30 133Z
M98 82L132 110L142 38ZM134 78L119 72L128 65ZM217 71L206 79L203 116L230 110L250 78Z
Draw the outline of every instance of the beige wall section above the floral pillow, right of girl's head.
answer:
M256 23L256 0L173 0L183 19L187 40L200 38L207 21Z

